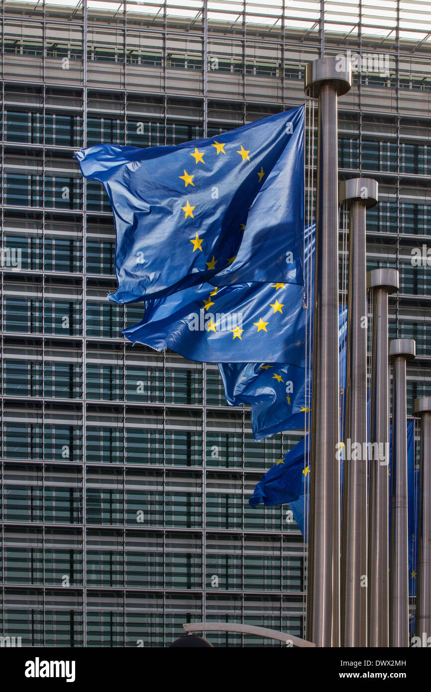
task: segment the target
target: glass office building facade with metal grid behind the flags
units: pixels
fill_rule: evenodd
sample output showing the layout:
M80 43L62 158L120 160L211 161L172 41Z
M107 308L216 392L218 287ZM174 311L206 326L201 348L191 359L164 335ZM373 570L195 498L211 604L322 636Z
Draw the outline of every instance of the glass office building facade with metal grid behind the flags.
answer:
M431 394L430 10L324 4L326 52L360 58L339 103L340 176L380 186L368 263L401 274L390 331L416 339L411 411ZM302 636L300 531L287 506L247 500L304 433L253 441L217 367L125 343L142 307L107 301L109 203L73 152L178 144L297 106L322 3L4 0L1 11L3 637L165 646L203 620Z

